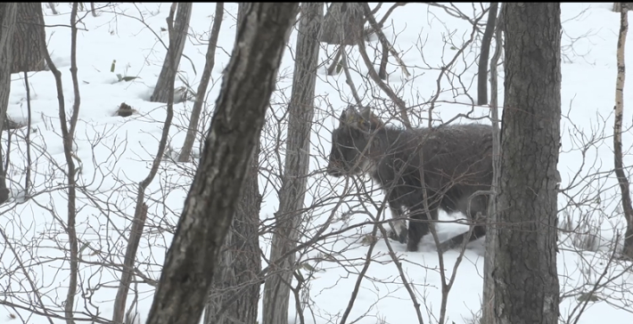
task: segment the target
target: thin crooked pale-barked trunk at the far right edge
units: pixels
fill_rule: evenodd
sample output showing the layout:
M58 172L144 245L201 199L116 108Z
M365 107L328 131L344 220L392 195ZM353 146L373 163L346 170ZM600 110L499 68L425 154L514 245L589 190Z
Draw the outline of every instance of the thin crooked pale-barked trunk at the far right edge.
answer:
M615 121L613 126L613 154L615 174L620 182L622 192L622 210L627 221L627 231L624 235L623 254L633 259L633 207L631 207L631 195L629 179L624 173L622 163L622 116L624 115L624 79L625 56L624 49L627 44L629 32L629 11L625 5L621 5L620 12L620 36L618 37L618 77L615 82Z

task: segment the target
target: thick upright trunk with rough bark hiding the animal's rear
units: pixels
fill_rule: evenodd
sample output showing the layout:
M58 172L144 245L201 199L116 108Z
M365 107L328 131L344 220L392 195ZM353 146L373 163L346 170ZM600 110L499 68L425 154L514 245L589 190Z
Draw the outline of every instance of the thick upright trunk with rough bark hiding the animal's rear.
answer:
M504 4L506 98L489 324L558 323L556 199L561 119L559 3ZM494 243L494 244L493 244ZM488 255L487 255L488 258Z

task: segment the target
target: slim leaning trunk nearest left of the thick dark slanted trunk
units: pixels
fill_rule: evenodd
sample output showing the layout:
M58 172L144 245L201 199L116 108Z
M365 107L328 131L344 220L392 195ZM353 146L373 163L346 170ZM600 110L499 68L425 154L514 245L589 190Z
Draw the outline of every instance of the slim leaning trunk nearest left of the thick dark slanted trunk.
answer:
M218 47L218 36L220 34L223 16L224 3L217 3L216 15L213 18L213 27L211 28L211 36L209 38L209 46L207 47L207 60L204 62L200 85L198 85L198 91L195 93L195 102L193 103L193 108L191 110L191 119L189 119L189 129L187 129L185 143L183 144L183 150L180 151L180 156L178 156L178 162L186 162L189 161L189 158L191 158L193 142L195 142L195 135L198 133L198 122L200 121L202 105L204 104L204 98L207 94L207 86L209 86L211 71L216 63L216 47Z

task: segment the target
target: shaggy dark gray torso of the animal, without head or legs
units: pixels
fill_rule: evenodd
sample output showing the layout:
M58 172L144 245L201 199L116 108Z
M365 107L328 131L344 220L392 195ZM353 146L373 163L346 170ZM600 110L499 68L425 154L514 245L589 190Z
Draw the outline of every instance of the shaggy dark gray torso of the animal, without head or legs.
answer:
M407 207L421 204L423 166L428 197L445 209L461 209L460 201L492 181L492 127L459 124L439 128L390 131L389 149L374 178ZM420 153L424 163L420 160ZM466 197L467 198L467 197Z

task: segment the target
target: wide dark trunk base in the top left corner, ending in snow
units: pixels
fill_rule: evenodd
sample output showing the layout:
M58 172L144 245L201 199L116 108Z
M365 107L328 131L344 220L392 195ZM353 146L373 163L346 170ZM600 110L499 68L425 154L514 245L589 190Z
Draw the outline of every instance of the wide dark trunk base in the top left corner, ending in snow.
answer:
M12 73L45 69L46 32L42 3L18 4L12 47Z

